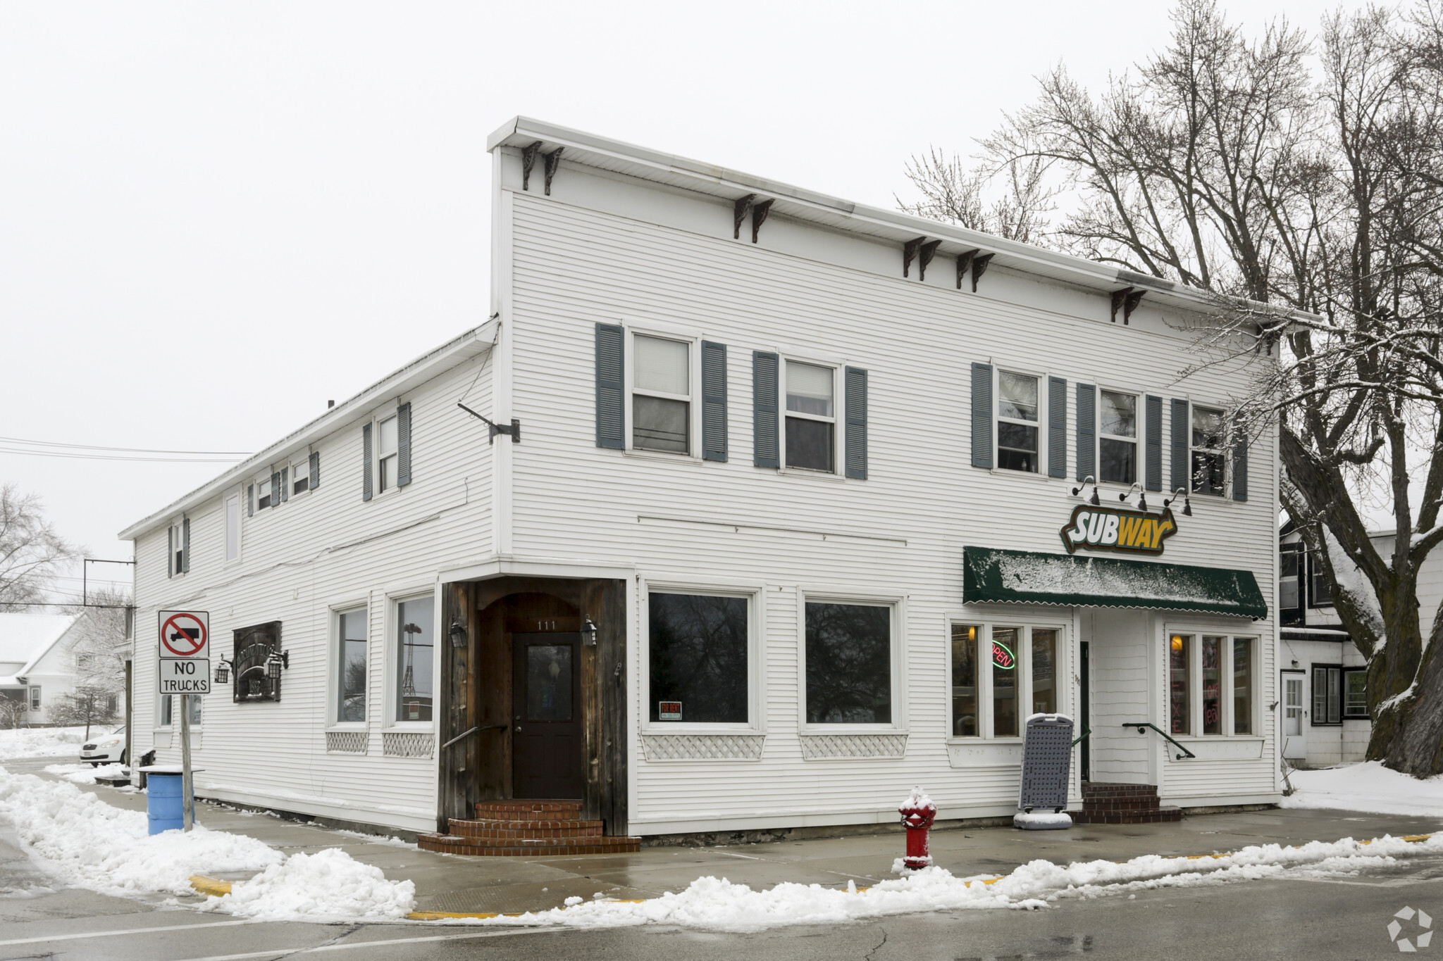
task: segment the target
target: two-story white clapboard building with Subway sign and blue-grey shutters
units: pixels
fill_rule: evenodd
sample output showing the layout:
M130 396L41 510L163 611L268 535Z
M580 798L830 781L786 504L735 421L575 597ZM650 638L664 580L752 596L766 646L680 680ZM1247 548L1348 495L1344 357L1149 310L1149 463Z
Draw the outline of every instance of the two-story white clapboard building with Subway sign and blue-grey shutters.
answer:
M1095 820L1277 801L1274 444L1245 372L1177 376L1205 297L534 120L489 144L491 318L123 532L137 752L179 758L146 631L206 611L198 791L440 850L541 798L589 850L892 823L913 784L1010 817L1035 712L1089 732Z

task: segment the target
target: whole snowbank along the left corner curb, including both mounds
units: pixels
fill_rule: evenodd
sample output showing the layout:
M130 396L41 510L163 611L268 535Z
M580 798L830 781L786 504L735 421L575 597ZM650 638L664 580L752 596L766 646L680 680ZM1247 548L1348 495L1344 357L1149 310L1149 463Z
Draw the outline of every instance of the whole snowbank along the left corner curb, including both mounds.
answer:
M79 765L51 765L68 769ZM87 771L58 771L92 775ZM108 895L195 893L192 875L260 870L206 906L250 918L397 918L416 903L413 882L385 880L378 867L361 864L339 849L286 857L245 834L209 831L149 833L141 811L105 804L75 784L0 768L0 815L39 864L59 880Z

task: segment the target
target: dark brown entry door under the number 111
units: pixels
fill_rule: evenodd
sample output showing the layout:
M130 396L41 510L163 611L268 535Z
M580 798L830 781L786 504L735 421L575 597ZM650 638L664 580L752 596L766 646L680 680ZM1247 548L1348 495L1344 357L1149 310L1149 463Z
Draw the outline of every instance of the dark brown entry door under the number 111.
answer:
M580 798L582 635L512 634L511 787L517 798Z

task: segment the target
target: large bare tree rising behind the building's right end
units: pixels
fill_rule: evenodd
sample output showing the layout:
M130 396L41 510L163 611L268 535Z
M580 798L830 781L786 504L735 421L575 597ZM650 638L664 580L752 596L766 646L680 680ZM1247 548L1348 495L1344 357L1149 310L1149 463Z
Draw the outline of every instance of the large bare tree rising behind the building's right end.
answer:
M1092 97L1055 69L983 143L993 167L1043 163L1065 190L1039 236L1216 295L1199 366L1254 362L1240 429L1278 428L1283 503L1368 658L1368 756L1418 777L1443 771L1443 609L1429 638L1418 612L1443 543L1440 22L1421 0L1250 40L1183 0L1136 73ZM1374 493L1398 532L1381 550Z

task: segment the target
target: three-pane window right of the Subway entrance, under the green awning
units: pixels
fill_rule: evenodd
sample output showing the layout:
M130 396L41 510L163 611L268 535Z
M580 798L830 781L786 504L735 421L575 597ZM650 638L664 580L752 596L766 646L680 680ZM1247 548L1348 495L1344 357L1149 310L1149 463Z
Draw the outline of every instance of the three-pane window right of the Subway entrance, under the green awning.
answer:
M1167 634L1169 733L1253 733L1255 640L1228 634Z

